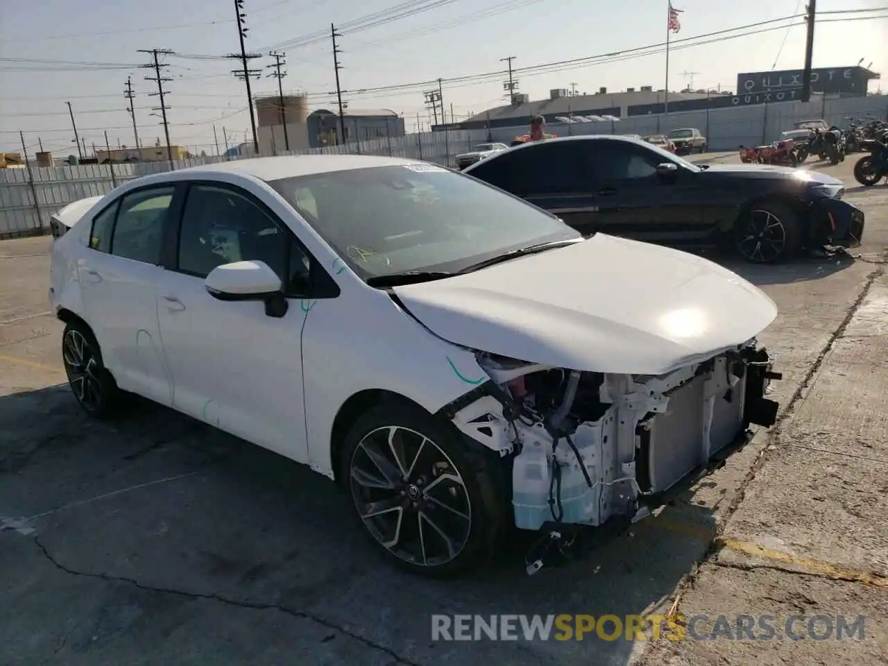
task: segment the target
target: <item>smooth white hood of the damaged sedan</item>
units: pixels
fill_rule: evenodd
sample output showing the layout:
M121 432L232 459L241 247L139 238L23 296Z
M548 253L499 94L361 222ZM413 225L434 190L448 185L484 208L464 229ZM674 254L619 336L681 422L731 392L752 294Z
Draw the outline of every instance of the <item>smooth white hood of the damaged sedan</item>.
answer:
M741 345L777 316L760 289L711 261L605 234L394 292L457 345L639 375Z

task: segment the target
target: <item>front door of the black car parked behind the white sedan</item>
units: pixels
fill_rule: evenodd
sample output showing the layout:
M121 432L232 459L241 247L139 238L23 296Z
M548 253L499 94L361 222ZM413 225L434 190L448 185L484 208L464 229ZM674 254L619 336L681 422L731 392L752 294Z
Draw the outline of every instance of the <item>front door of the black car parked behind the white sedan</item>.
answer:
M585 143L601 231L679 245L709 236L696 201L698 174L679 166L678 178L662 178L657 165L668 160L659 152L614 139Z

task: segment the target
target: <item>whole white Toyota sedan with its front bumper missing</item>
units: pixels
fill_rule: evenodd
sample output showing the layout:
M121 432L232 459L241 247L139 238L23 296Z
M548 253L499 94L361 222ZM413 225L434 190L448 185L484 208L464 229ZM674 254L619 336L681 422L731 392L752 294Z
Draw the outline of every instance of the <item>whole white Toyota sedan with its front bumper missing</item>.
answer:
M76 212L50 297L83 408L138 393L308 464L418 573L643 518L775 420L759 289L433 164L242 160Z

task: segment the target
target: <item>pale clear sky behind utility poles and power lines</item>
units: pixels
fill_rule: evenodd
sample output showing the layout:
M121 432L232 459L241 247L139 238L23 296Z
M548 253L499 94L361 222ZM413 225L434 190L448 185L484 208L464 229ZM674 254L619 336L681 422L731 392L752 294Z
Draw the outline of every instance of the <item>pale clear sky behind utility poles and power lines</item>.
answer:
M361 20L405 0L244 0L247 49L267 53L281 47L287 54L284 91L311 93L311 107L335 107L336 89L329 38L330 23L361 26ZM364 29L340 28L344 98L353 109L391 108L403 113L408 131L417 113L427 122L423 91L359 92L361 89L445 79L445 107L456 119L503 103L505 76L448 83L446 79L503 69L501 59L514 56L514 67L619 52L666 37L666 0L430 0L406 4L420 9L397 20L381 20ZM680 40L737 28L805 11L805 0L675 0L683 11ZM863 65L888 74L888 0L821 0L818 12L868 9L874 13L824 14L818 21L814 67ZM75 112L87 146L104 143L107 129L112 146L133 145L131 120L125 111L123 88L132 76L139 138L145 144L163 139L153 74L139 65L149 56L139 49L171 49L182 54L224 56L239 50L234 24L234 0L0 0L0 150L20 149L18 131L25 131L28 151L41 139L57 155L75 153L65 101ZM385 19L386 15L381 18ZM881 16L877 20L848 20ZM843 19L838 21L836 19ZM827 22L827 20L832 20ZM799 19L793 22L800 22ZM364 24L367 21L363 21ZM768 24L762 28L785 24ZM752 28L750 28L752 29ZM307 42L307 44L305 44ZM287 44L289 43L289 44ZM779 57L778 57L779 54ZM670 89L721 86L733 91L737 72L792 69L803 66L805 27L774 29L754 36L719 39L694 48L670 52ZM21 62L52 60L53 63ZM56 62L99 63L90 66ZM265 67L273 60L252 61ZM225 59L163 59L170 96L170 139L192 151L214 152L213 124L218 140L226 128L232 144L245 139L250 127L242 83ZM21 71L28 69L28 71ZM268 70L266 70L268 71ZM609 91L627 86L662 88L662 53L631 59L560 67L517 75L519 91L541 99L551 88ZM875 89L879 82L870 84ZM431 87L431 86L429 86ZM884 85L888 89L888 84ZM276 92L276 80L263 76L254 94Z

